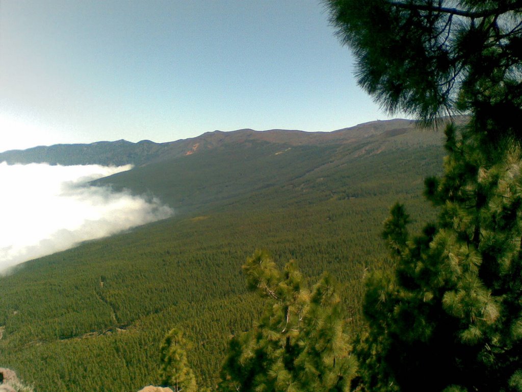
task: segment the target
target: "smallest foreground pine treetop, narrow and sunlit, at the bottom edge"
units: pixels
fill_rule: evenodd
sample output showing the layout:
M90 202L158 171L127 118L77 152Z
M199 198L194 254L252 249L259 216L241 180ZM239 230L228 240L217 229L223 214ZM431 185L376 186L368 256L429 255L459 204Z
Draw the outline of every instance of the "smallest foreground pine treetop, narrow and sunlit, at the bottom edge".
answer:
M196 378L188 366L186 349L188 342L177 328L165 335L160 348L161 385L170 386L174 392L196 392Z

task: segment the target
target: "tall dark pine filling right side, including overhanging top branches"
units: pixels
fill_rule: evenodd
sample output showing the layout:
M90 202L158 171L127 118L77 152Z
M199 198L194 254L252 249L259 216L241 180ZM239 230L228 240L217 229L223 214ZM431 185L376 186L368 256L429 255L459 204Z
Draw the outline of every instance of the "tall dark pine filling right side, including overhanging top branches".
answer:
M392 208L391 275L367 281L358 345L370 391L522 391L522 2L329 0L360 85L390 112L446 128L419 235Z

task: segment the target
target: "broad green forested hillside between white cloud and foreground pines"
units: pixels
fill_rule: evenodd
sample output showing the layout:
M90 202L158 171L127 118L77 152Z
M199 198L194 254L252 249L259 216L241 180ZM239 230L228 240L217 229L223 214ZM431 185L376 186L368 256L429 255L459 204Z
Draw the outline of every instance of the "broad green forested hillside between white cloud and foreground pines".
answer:
M135 391L159 382L159 344L177 326L199 384L213 386L228 339L262 308L241 273L258 248L310 278L336 276L346 318L363 328L363 277L389 268L381 223L396 200L419 225L433 215L420 194L440 170L440 139L409 129L351 143L234 140L103 179L176 215L0 278L0 365L37 391Z

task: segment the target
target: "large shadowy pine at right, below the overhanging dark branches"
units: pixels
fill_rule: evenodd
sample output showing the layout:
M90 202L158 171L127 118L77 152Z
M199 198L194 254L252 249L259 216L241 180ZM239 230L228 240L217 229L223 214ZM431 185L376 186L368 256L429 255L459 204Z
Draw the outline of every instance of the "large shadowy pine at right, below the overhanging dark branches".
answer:
M522 390L521 150L485 155L469 126L448 126L445 174L426 180L438 221L410 236L397 204L385 222L397 267L367 283L369 390Z

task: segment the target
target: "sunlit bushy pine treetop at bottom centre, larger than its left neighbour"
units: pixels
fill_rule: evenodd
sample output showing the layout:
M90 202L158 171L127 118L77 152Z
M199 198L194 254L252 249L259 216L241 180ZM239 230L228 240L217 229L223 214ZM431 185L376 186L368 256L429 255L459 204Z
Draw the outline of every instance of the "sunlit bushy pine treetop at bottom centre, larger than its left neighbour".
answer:
M266 306L258 324L230 342L220 390L348 391L357 364L331 278L309 291L293 261L281 272L262 251L243 269Z

